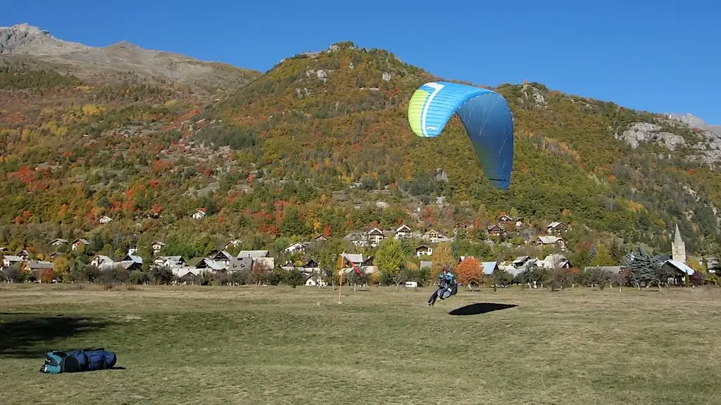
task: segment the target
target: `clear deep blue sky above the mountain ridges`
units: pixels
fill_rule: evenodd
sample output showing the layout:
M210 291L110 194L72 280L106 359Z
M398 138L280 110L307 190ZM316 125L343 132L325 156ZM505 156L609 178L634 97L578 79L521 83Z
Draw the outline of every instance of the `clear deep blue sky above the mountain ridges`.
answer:
M721 1L7 1L0 25L266 71L352 40L446 79L550 89L721 124Z

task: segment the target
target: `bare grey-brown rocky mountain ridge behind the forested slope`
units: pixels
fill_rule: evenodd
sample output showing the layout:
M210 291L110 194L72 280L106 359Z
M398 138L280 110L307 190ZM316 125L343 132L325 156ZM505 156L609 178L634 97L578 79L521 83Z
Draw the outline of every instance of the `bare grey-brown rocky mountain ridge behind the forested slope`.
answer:
M1 61L50 66L94 82L128 80L132 72L132 79L193 84L211 92L238 89L260 76L257 71L146 50L126 41L102 48L66 42L27 24L0 27Z

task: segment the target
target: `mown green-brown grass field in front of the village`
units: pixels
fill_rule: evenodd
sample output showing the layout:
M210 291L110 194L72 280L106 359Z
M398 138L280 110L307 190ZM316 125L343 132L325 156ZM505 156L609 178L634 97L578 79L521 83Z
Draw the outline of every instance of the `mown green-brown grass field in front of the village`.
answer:
M0 403L721 402L718 290L429 294L0 285ZM124 369L38 372L81 347Z

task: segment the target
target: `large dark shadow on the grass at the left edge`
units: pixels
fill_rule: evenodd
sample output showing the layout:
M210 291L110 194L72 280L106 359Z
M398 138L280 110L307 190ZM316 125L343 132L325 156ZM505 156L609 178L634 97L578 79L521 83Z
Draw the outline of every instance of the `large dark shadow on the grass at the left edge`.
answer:
M98 321L79 316L41 316L8 319L9 313L0 316L0 357L38 357L50 350L63 350L51 346L54 341L86 334L105 328L109 321Z

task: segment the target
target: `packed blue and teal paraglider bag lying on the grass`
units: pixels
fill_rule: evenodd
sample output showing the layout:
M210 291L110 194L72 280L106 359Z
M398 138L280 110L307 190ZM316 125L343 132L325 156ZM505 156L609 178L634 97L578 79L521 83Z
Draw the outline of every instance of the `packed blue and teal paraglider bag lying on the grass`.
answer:
M118 357L105 349L82 349L63 352L53 350L45 353L41 373L80 373L81 371L105 370L115 366Z

